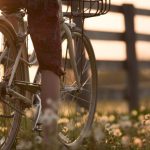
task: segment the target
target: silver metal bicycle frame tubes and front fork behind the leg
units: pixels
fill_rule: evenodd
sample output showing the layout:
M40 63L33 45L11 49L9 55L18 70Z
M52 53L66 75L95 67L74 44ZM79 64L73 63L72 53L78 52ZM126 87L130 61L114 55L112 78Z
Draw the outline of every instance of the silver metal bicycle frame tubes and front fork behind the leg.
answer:
M78 87L80 88L81 87L81 84L80 84L80 78L79 78L79 75L78 75L78 71L77 71L77 64L76 64L76 60L75 60L75 51L74 51L74 47L73 47L73 40L72 40L72 34L71 34L71 25L70 27L68 25L66 25L64 19L63 19L63 12L62 12L62 2L61 0L58 0L58 3L59 3L59 8L60 8L60 11L59 11L59 17L60 17L60 22L61 22L61 27L62 27L62 33L63 34L66 34L66 37L67 37L67 44L68 44L68 48L69 48L69 55L70 55L70 61L71 61L71 65L72 65L72 68L74 70L74 74L75 74L75 78L76 78L76 82L77 82L77 85ZM15 60L15 63L13 65L13 68L12 68L12 73L11 73L11 76L10 76L10 79L9 79L9 82L8 82L8 87L7 87L7 91L11 94L14 94L15 96L18 96L20 97L20 100L22 100L24 103L28 103L29 105L31 105L31 100L24 97L23 95L19 94L18 92L14 91L13 89L11 89L11 85L12 85L12 82L13 82L13 79L14 79L14 76L15 76L15 73L16 73L16 70L17 70L17 67L19 65L19 61L23 61L23 63L25 63L26 65L30 66L30 65L33 65L37 62L37 59L36 60L33 60L32 62L28 62L24 59L22 59L21 55L23 53L25 49L25 45L26 45L26 37L27 37L27 34L25 33L25 28L24 28L24 19L21 15L19 14L11 14L12 16L15 16L17 19L18 19L18 34L19 35L22 35L24 37L24 40L23 42L21 43L21 46L20 46L20 49L18 50L18 54L17 54L17 57L16 57L16 60ZM62 34L61 33L61 34ZM35 54L35 52L33 52ZM5 51L4 53L1 54L0 56L0 60L2 59L2 57L4 57L5 55ZM33 55L31 55L33 57ZM36 57L35 57L36 58ZM33 59L33 58L32 58Z

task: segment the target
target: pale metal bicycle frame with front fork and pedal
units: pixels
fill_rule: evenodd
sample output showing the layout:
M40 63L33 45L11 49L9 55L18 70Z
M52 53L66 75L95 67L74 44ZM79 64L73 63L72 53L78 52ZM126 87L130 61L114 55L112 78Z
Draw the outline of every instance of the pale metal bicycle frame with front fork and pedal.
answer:
M60 20L61 20L61 28L62 28L61 35L62 34L66 34L66 36L67 36L68 47L69 47L69 55L70 55L70 59L71 59L71 65L72 65L72 68L74 70L74 74L75 74L75 78L76 78L76 81L77 81L77 85L80 88L81 87L81 85L80 85L80 78L79 78L79 75L78 75L78 72L77 72L75 53L73 51L74 47L73 47L72 35L71 35L71 31L70 31L71 25L69 27L69 25L67 25L64 22L61 0L58 0L58 1L59 1L59 6L60 6ZM10 14L9 15L9 17L15 16L17 18L18 28L19 28L17 35L18 35L18 39L22 39L22 40L21 40L21 46L20 46L20 48L18 50L17 57L15 59L15 63L14 63L13 68L12 68L12 73L11 73L10 79L8 81L8 86L7 86L6 90L7 90L8 93L10 93L10 94L12 94L14 96L17 96L19 98L19 100L21 100L23 103L25 103L27 106L30 107L32 105L31 100L29 98L21 95L20 93L16 92L15 90L13 90L11 88L12 83L13 83L13 79L14 79L14 76L15 76L15 73L16 73L16 70L17 70L17 67L19 65L19 61L22 61L23 63L25 63L28 66L34 65L37 62L37 60L34 60L33 62L30 62L30 61L26 61L26 60L24 60L22 58L22 53L23 53L23 51L26 50L26 48L25 48L26 47L26 38L27 38L27 35L28 35L28 33L26 33L26 31L25 31L24 19L23 19L24 14L23 13L24 12L17 12L15 14ZM5 16L5 18L3 20L8 22L8 24L12 28L12 24L7 19L7 15L4 14L4 16ZM33 53L35 53L35 52L33 52ZM1 58L4 55L5 55L5 53L1 54L0 60L1 60ZM35 85L35 84L30 83L30 82L20 82L20 83L22 83L22 84L24 84L26 86L29 86L29 87L34 86L35 88L39 89L39 85Z

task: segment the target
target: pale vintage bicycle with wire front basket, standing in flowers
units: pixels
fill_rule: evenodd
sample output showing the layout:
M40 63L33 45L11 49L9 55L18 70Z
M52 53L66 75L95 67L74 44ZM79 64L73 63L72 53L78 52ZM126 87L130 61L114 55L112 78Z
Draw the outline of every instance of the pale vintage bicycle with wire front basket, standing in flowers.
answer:
M94 119L97 71L90 40L72 20L74 17L80 16L84 20L107 13L110 0L63 1L67 6L63 13L60 9L62 67L65 74L61 77L58 139L66 147L76 148L87 136ZM76 10L73 10L73 2L76 2ZM29 67L37 64L37 59L34 51L28 56L25 14L25 10L10 13L5 9L0 17L0 148L3 150L11 149L25 108L32 107L33 97L40 99L38 69L34 81L29 81ZM18 31L7 19L9 16L17 18ZM69 18L69 23L65 22L64 16ZM38 117L39 113L36 121Z

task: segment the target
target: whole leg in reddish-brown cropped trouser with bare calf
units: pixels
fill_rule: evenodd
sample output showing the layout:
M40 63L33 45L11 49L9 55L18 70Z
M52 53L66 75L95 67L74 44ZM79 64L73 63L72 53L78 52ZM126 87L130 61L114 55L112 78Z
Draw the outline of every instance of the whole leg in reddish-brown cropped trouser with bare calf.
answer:
M60 76L63 74L58 5L49 4L48 9L38 12L29 10L29 31L42 75L42 117L52 118L50 123L44 123L44 141L46 145L52 147L57 145L55 144L57 117L55 116L60 96Z

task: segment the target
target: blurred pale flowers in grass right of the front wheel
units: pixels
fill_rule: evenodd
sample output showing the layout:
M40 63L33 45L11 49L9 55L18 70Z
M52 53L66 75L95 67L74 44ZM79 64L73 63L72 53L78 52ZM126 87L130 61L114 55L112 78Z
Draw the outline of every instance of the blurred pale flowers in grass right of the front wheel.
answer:
M96 113L92 132L88 150L149 150L150 114L144 108L131 113Z

